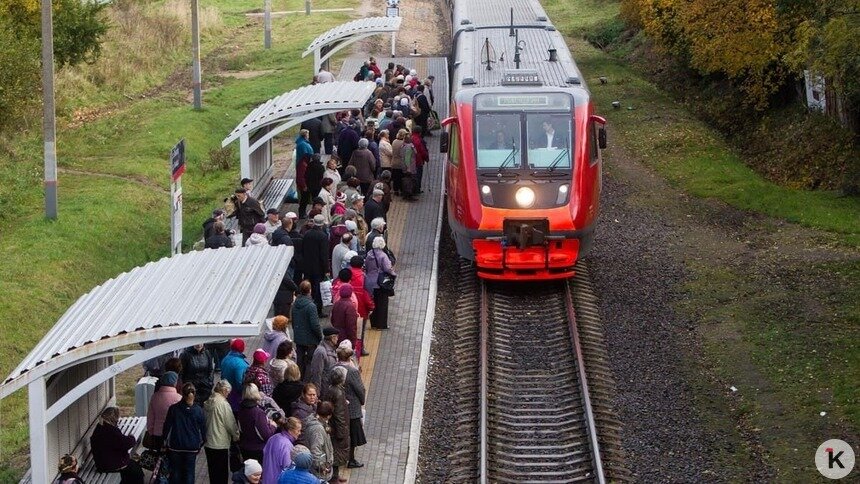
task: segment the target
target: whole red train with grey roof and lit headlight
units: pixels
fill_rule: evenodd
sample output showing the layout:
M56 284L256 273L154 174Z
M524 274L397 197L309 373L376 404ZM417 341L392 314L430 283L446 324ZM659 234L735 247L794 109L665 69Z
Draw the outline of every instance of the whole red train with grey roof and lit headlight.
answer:
M594 238L606 120L538 0L451 0L448 224L484 279L573 277Z

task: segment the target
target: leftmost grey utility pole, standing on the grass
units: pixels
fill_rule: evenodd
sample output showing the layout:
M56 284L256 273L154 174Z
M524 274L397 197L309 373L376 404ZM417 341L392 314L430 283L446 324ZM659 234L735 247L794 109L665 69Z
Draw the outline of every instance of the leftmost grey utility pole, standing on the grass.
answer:
M57 122L54 112L54 21L51 0L42 0L42 137L45 153L45 217L57 219Z

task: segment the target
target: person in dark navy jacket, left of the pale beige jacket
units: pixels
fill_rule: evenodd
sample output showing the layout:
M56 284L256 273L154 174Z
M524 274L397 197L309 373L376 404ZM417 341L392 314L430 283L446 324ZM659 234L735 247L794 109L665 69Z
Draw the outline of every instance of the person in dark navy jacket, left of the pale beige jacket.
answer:
M195 395L193 383L182 385L182 400L170 406L164 419L171 484L194 484L197 454L206 435L206 417L200 405L194 404Z

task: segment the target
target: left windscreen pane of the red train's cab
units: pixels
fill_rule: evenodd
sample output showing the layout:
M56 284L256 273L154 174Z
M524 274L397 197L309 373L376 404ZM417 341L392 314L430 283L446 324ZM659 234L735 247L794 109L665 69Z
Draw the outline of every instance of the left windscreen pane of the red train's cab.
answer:
M520 115L478 113L475 120L478 169L520 168L522 166Z

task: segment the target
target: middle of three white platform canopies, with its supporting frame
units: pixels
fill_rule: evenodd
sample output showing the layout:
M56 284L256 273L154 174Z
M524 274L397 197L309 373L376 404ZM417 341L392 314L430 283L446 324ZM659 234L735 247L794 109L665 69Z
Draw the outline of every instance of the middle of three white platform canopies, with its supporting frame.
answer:
M272 138L311 118L361 109L375 89L373 82L336 81L285 92L245 116L221 146L238 139L241 176L253 178L251 155L260 147L270 146Z

